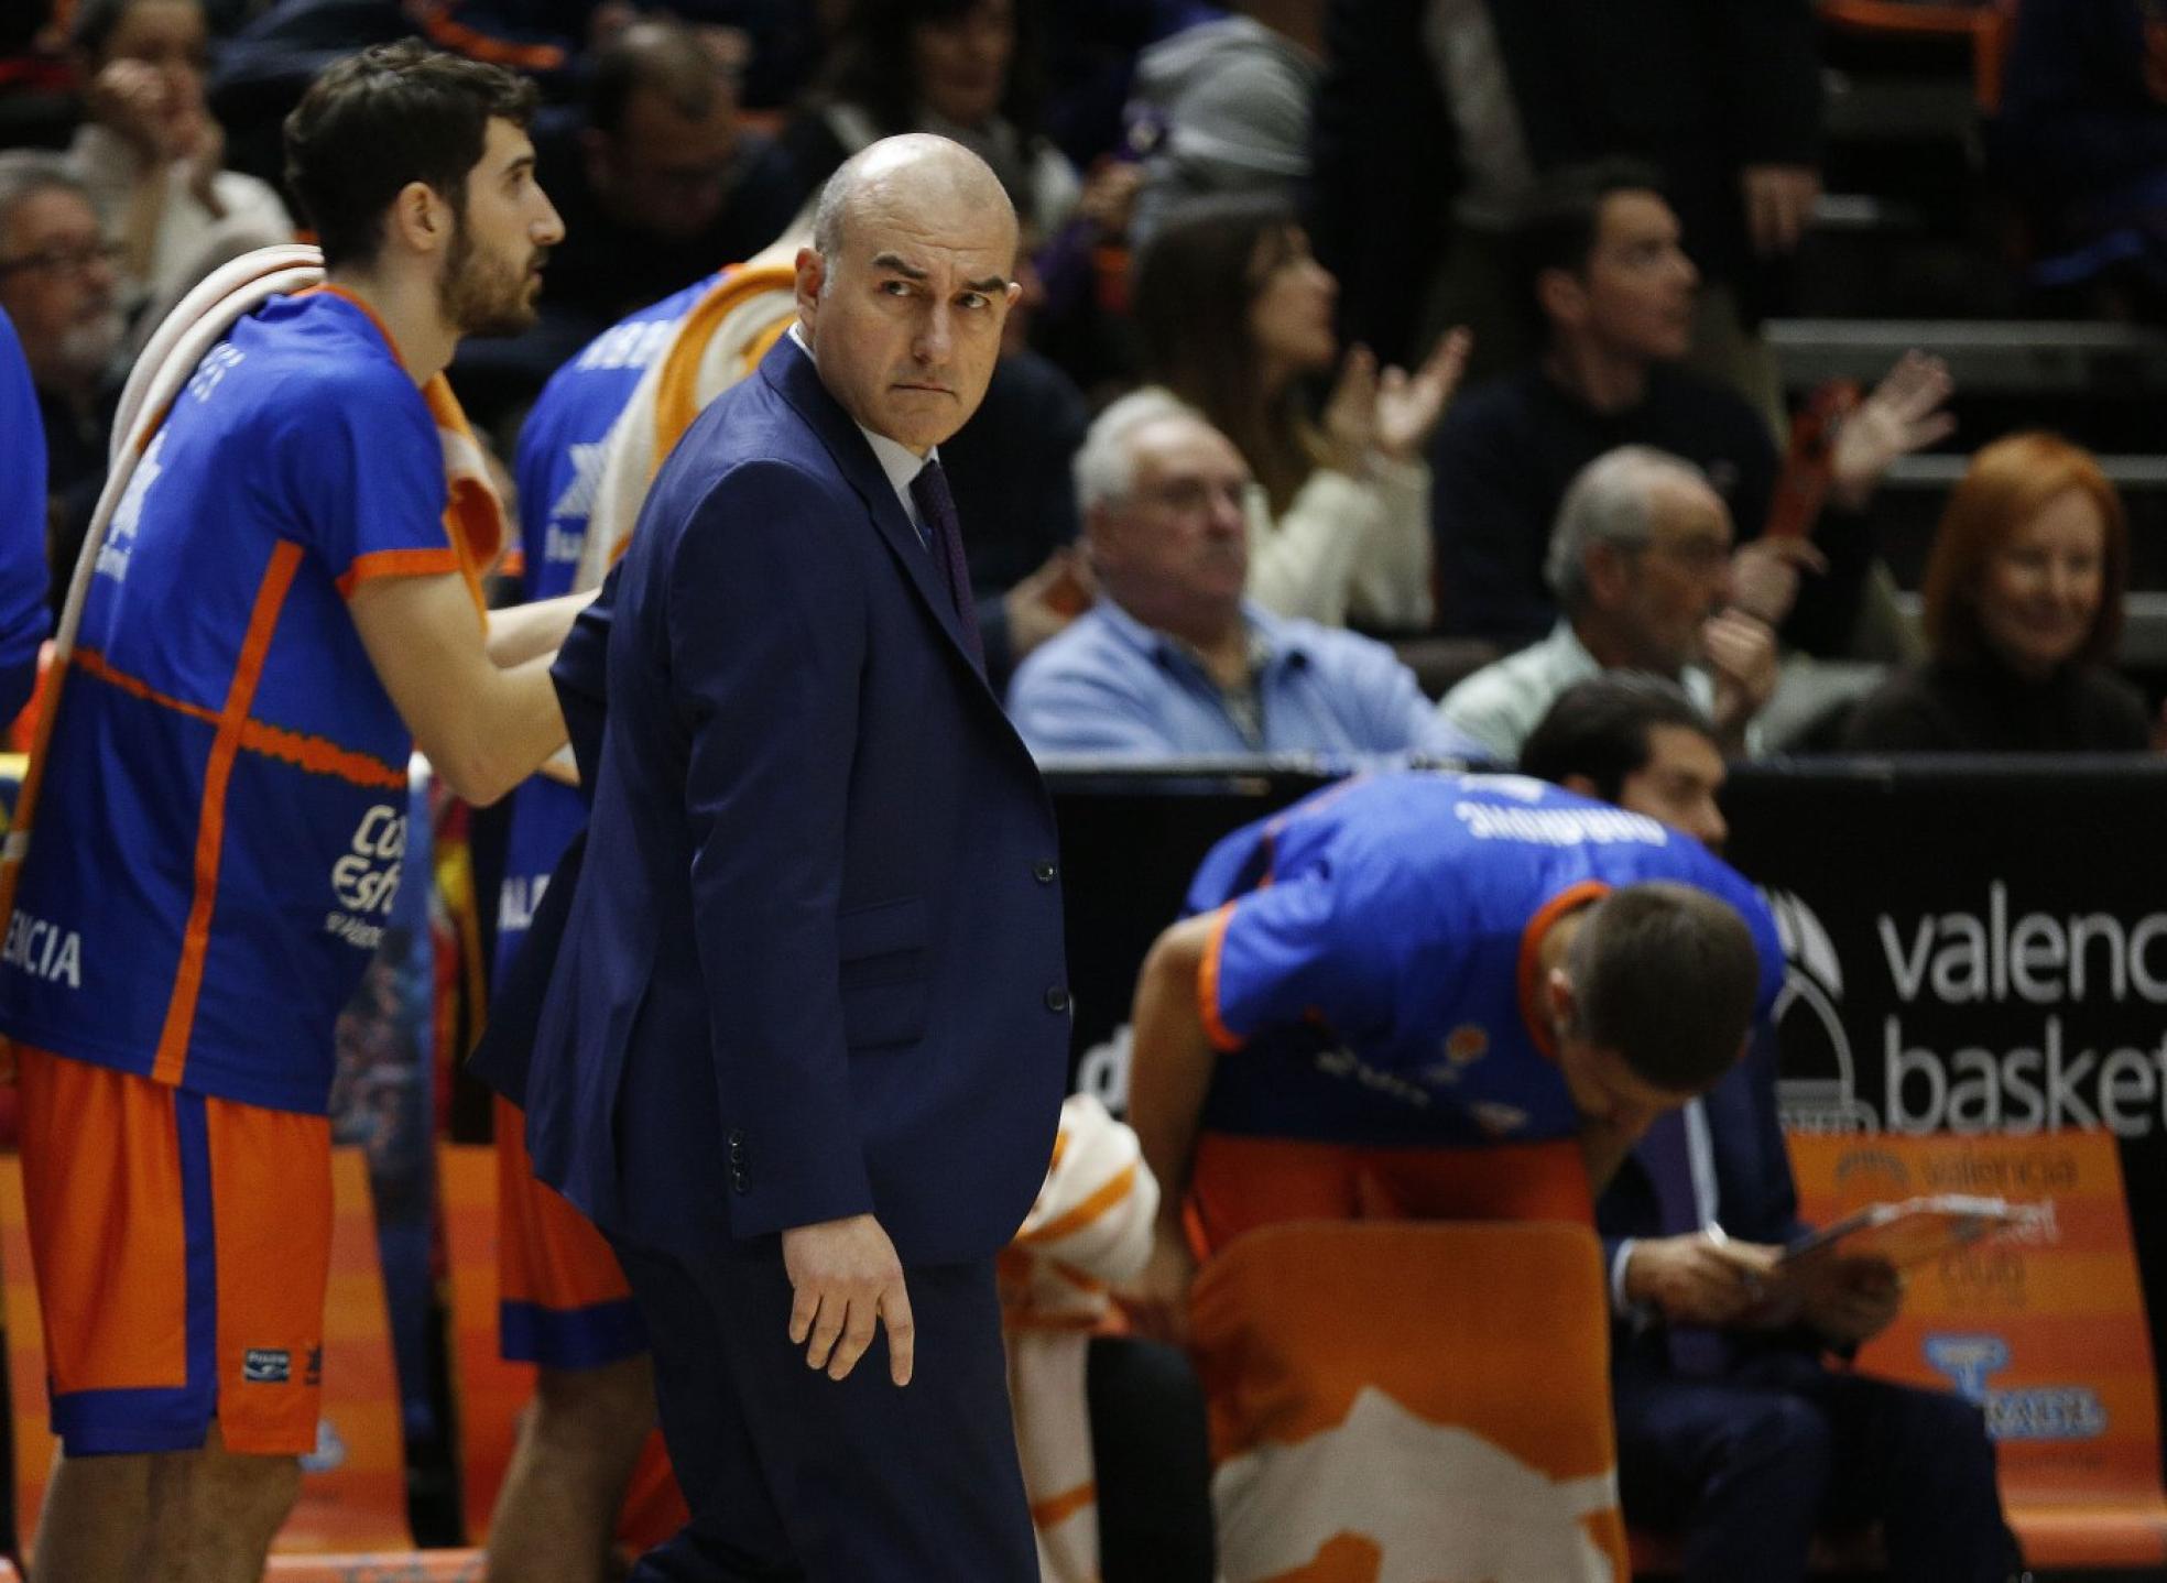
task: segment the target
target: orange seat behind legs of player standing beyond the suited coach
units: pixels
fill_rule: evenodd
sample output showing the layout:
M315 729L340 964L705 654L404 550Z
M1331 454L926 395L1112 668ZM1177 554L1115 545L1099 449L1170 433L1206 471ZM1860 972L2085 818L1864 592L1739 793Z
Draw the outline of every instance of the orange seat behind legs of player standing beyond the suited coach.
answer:
M438 1206L451 1267L451 1386L457 1395L459 1492L470 1540L488 1540L496 1492L511 1466L518 1418L535 1390L535 1369L505 1362L496 1345L496 1150L440 1143ZM689 1520L661 1431L633 1468L618 1514L618 1540L648 1551Z

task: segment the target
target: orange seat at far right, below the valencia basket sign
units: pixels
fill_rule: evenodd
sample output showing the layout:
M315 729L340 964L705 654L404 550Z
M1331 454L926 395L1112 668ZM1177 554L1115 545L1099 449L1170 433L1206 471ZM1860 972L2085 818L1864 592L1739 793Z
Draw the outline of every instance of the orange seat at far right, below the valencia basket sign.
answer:
M2167 1564L2152 1332L2113 1135L1794 1135L1790 1154L1809 1221L1916 1193L2041 1206L2035 1230L1911 1269L1859 1369L1985 1405L2033 1566Z

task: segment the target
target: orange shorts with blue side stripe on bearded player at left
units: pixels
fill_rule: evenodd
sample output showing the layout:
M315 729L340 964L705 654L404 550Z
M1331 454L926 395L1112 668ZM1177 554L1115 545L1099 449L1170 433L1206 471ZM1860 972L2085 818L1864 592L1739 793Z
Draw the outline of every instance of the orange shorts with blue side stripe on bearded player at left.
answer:
M67 1455L316 1447L332 1124L17 1046L22 1189Z

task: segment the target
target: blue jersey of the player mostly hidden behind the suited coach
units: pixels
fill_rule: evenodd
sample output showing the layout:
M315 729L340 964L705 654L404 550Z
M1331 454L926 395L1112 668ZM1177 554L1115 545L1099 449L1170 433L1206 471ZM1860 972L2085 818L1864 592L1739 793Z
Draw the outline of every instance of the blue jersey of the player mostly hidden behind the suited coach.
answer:
M587 548L587 515L602 479L602 444L648 366L717 279L719 275L709 275L693 282L589 340L579 357L550 377L520 424L516 476L529 600L572 593L579 559ZM496 901L498 972L527 938L557 860L585 823L587 803L561 782L533 775L511 795L505 884Z

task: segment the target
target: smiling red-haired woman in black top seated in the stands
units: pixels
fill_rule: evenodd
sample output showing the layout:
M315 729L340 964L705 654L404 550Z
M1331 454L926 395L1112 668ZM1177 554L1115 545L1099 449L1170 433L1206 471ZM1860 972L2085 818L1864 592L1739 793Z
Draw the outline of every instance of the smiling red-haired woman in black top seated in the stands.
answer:
M2089 450L2050 433L1985 446L1926 559L1924 665L1872 693L1855 751L2132 754L2143 695L2113 669L2128 526Z

